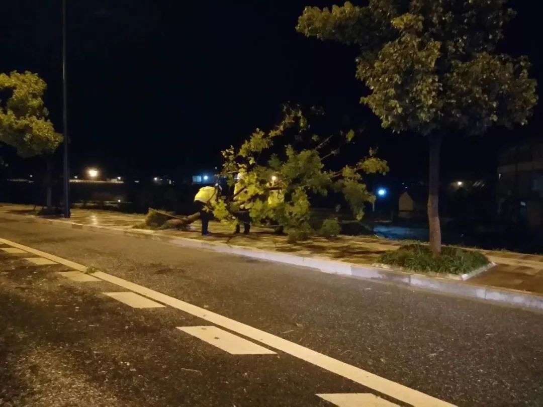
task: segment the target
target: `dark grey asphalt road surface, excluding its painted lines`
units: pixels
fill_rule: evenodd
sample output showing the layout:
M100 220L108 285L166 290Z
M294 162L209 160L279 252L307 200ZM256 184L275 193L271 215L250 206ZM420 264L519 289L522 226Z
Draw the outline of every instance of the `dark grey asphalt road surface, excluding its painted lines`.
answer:
M1 217L0 238L452 404L543 405L543 314L534 311ZM230 354L175 329L209 321L131 308L103 294L126 291L114 284L74 282L57 274L66 266L24 257L0 250L2 406L332 406L320 393L408 405L270 346L260 344L276 353Z

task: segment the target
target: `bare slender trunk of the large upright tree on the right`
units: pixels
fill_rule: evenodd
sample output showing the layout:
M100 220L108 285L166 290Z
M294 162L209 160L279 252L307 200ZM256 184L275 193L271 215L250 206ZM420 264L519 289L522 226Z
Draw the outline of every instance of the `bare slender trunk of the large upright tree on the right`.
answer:
M439 155L443 135L430 135L430 185L428 187L428 225L430 250L434 256L441 253L441 227L439 225Z

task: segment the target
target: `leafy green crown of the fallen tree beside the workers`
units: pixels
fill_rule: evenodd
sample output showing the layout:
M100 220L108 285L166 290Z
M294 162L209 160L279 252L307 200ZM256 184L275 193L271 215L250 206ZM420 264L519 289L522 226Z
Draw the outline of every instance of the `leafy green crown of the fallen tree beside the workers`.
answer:
M313 118L323 114L311 110ZM213 205L214 215L233 224L239 208L250 207L253 221L279 225L289 240L295 241L314 233L310 225L311 195L336 192L344 196L355 218L361 220L365 203L375 200L362 182L362 174L384 174L388 166L370 150L368 157L353 166L327 168L327 161L354 138L353 130L321 137L299 106L285 106L282 120L273 130L256 129L241 147L223 151L222 175L230 187L236 182L238 187L236 193L219 198ZM243 176L236 180L239 174ZM337 219L326 221L321 233L338 233Z

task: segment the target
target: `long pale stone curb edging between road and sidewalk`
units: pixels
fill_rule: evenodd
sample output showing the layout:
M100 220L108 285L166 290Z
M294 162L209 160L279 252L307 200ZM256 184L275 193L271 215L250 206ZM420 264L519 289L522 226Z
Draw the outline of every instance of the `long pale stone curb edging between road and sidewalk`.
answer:
M326 258L295 256L289 255L288 253L252 249L251 247L247 246L236 246L191 238L169 237L163 234L158 234L155 231L148 230L123 230L106 226L82 225L75 222L43 219L27 215L1 213L0 217L16 220L21 220L22 218L30 222L61 226L65 228L116 234L140 239L151 239L181 247L212 250L218 253L227 253L254 259L268 260L270 262L304 266L317 269L328 274L337 274L372 281L395 283L405 285L407 287L414 287L434 292L445 292L446 294L453 294L464 298L475 298L477 300L489 301L493 303L505 303L524 308L543 310L543 296L528 294L525 291L496 288L488 285L468 284L464 281L447 279L443 277L430 277L406 271L384 269L369 264L363 265L338 262L336 260Z

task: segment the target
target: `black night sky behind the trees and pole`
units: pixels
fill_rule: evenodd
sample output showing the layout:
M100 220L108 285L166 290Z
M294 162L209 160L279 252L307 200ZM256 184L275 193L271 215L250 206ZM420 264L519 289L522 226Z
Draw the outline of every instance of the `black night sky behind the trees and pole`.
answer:
M56 129L61 120L61 2L4 2L0 72L29 70L44 78ZM247 4L245 4L247 3ZM362 2L356 2L361 4ZM268 128L286 101L321 105L331 120L364 123L350 151L378 145L395 179L426 179L427 145L414 135L380 128L359 105L356 48L296 33L305 5L326 1L179 2L68 0L68 92L72 174L97 166L110 176L180 176L220 165L220 150L254 128ZM536 1L512 0L519 12L502 51L527 54L543 83ZM495 171L497 149L515 138L541 137L541 105L531 123L484 138L452 135L445 144L445 177ZM16 160L13 171L36 171L40 160ZM60 153L60 151L59 151ZM57 154L61 168L61 155Z

